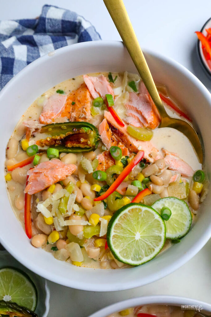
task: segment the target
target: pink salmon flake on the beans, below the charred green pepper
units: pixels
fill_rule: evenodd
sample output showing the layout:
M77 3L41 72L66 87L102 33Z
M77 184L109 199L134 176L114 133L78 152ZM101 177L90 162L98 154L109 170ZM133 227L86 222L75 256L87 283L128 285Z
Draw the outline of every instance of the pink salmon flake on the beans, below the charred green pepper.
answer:
M65 164L59 159L42 162L28 171L28 185L24 192L29 195L38 193L76 171L75 164Z

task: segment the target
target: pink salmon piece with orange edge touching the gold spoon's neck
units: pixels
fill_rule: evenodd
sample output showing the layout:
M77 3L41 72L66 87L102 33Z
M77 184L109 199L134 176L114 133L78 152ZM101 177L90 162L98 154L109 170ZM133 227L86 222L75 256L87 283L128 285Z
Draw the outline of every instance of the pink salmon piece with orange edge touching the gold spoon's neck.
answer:
M136 127L155 129L160 123L160 115L143 81L140 81L139 91L139 94L129 93L125 105L128 117L124 120Z

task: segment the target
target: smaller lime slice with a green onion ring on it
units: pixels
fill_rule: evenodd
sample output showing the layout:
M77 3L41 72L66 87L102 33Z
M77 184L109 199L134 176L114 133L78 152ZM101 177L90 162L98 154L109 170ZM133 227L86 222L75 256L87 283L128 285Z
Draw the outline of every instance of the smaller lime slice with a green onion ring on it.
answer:
M185 236L191 226L192 216L186 202L176 197L165 197L152 204L152 208L160 213L163 207L171 210L171 217L165 221L166 238L179 239Z

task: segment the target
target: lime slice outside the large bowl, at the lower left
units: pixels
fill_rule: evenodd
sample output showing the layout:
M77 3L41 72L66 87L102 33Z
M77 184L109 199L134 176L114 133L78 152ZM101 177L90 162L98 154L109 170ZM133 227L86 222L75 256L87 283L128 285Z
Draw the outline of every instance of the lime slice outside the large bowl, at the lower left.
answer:
M34 311L37 305L37 290L28 275L21 270L2 268L0 300L12 301Z

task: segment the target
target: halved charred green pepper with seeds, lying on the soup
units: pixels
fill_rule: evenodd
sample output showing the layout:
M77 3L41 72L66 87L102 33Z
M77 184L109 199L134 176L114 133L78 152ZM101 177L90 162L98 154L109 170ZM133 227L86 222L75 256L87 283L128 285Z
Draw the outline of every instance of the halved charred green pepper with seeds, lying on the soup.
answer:
M47 124L41 127L40 133L51 135L39 140L40 146L56 147L59 152L65 153L94 151L100 140L97 128L88 122Z

